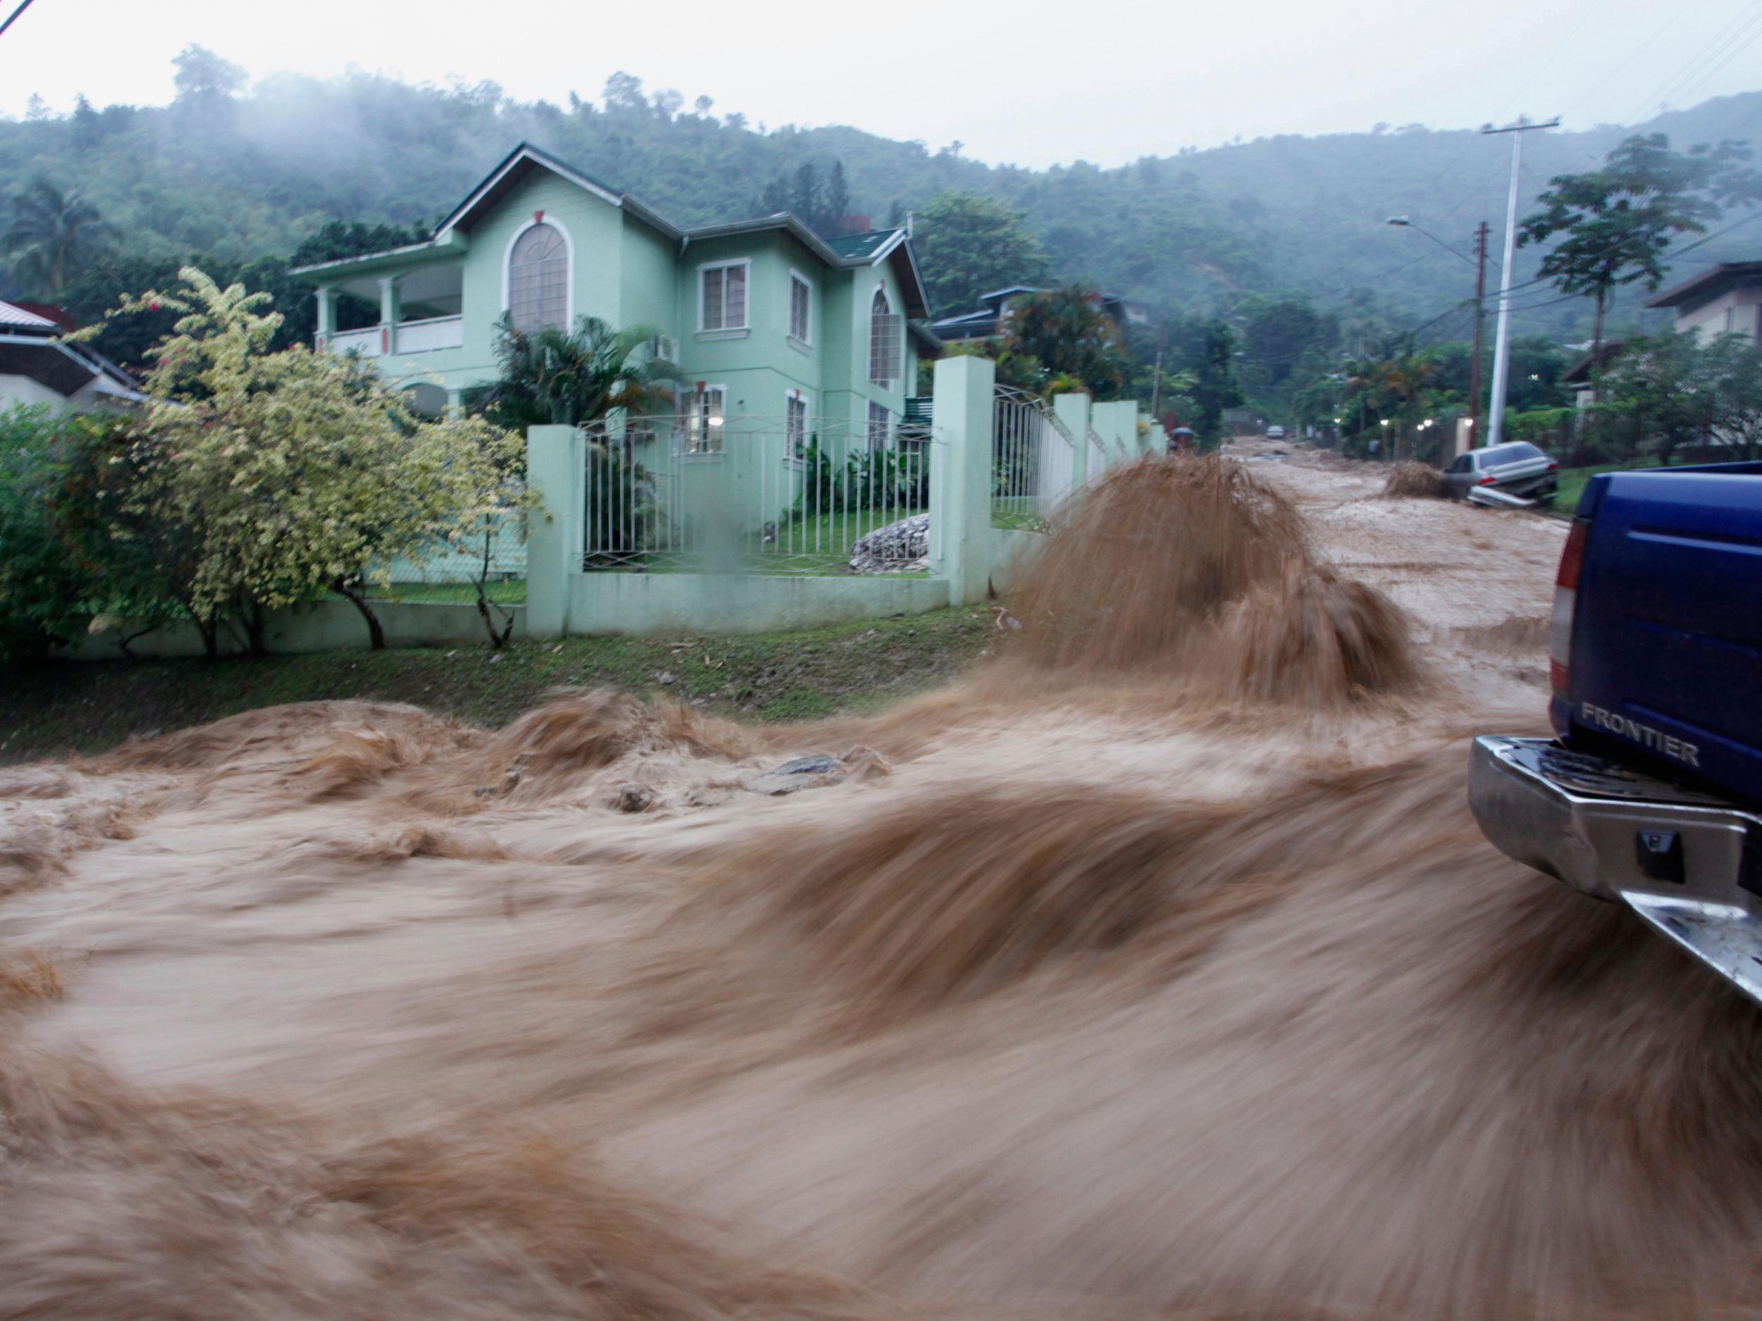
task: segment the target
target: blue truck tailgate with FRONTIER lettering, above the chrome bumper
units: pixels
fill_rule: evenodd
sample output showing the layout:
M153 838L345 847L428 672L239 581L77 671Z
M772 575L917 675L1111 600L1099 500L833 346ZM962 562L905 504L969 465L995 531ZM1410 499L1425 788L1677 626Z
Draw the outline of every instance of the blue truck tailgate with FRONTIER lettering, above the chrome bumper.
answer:
M1581 514L1575 731L1762 800L1762 463L1609 474Z

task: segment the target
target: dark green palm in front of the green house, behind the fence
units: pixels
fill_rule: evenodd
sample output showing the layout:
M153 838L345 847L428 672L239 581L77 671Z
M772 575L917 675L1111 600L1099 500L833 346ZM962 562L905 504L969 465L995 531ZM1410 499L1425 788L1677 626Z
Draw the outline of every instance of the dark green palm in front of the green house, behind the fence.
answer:
M500 379L485 403L506 426L671 412L678 368L643 352L657 335L647 326L613 329L599 317L576 317L571 331L522 331L504 315L495 338Z

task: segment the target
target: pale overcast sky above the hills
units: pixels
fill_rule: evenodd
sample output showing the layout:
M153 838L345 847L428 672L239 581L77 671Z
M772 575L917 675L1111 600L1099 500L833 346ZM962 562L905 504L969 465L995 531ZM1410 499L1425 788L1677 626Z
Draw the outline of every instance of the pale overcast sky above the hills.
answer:
M1632 123L1762 86L1757 0L35 0L0 37L0 113L23 114L33 92L53 109L78 92L162 104L190 42L252 77L358 65L559 104L597 100L624 69L752 123L959 139L1024 166L1378 122Z

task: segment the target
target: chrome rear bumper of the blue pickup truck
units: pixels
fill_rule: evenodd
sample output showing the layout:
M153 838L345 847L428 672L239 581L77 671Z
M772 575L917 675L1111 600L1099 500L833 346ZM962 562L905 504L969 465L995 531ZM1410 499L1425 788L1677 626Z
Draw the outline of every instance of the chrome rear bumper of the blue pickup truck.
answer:
M1568 752L1475 740L1468 803L1508 858L1621 902L1762 1000L1762 814Z

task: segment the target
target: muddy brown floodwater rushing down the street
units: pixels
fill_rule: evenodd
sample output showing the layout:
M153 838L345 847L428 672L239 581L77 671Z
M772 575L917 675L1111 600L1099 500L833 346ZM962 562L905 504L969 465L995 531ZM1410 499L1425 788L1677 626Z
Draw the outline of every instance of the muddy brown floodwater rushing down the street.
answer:
M0 1316L1753 1314L1755 1009L1464 805L1565 528L1380 490L1110 476L872 719L0 771Z

